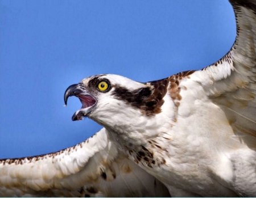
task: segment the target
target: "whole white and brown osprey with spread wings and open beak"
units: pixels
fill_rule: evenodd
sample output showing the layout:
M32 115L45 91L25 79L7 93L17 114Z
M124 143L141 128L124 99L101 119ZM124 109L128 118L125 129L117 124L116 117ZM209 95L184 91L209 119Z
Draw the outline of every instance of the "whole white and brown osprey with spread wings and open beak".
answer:
M0 161L0 196L256 196L256 1L216 63L159 81L94 75L65 91L104 126L57 153Z

